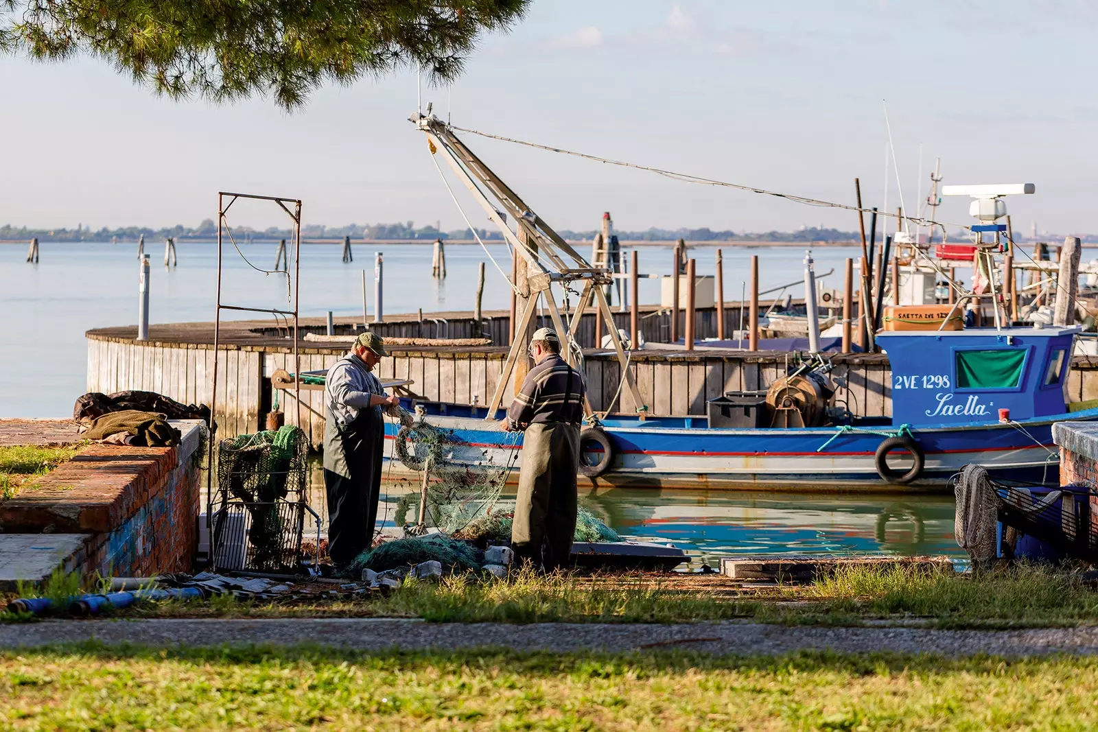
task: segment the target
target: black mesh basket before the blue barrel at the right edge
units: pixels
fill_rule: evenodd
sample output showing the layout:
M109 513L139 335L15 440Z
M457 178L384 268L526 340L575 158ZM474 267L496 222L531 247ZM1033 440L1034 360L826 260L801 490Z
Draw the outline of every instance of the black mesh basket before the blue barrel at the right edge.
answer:
M1098 525L1091 503L1098 492L1085 485L1012 486L996 484L999 521L1064 552L1098 561Z

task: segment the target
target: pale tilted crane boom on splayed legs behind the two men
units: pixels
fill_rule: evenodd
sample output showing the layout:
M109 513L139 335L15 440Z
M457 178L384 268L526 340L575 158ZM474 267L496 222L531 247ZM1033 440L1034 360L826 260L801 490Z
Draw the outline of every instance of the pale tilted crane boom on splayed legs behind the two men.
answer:
M503 393L507 381L515 369L515 363L522 356L523 340L518 334L526 333L534 313L538 309L538 301L545 299L549 309L553 326L567 342L573 342L572 333L580 324L580 318L587 309L592 299L595 301L595 317L602 317L606 325L606 330L614 342L614 350L617 353L618 362L621 364L621 378L628 385L634 403L643 405L640 391L637 388L636 379L629 370L629 356L625 352L621 338L618 335L614 316L610 313L606 293L601 285L613 283L613 277L608 269L593 267L583 258L568 241L552 229L540 216L515 193L498 176L484 165L484 162L470 150L464 143L458 139L457 135L448 123L442 122L434 114L424 115L416 112L411 121L427 136L427 146L432 155L441 153L441 157L450 166L453 172L461 179L469 192L480 203L495 225L500 228L507 244L512 249L526 260L529 274L530 297L526 308L519 316L519 322L515 326L516 338L511 344L507 360L504 362L503 374L500 383L495 387L495 393L488 404L486 419L494 419L503 401ZM486 192L485 192L486 191ZM498 207L490 199L491 195L498 203ZM512 230L506 223L509 216L515 222L515 230ZM575 311L571 314L571 320L565 323L561 317L560 308L557 306L556 296L552 293L552 284L556 282L561 288L569 288L573 282L582 281L583 291L580 293ZM512 283L514 285L514 283ZM567 315L567 313L565 313ZM567 349L565 359L572 365L576 365L576 354L572 348ZM640 418L645 418L647 407L638 409ZM587 417L593 417L593 413L587 407Z

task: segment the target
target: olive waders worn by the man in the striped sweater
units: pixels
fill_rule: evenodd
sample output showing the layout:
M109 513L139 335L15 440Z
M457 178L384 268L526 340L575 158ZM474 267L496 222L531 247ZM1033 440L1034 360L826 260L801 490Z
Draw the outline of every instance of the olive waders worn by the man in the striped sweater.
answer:
M536 423L526 428L518 499L511 528L515 555L546 570L567 567L575 533L580 428Z

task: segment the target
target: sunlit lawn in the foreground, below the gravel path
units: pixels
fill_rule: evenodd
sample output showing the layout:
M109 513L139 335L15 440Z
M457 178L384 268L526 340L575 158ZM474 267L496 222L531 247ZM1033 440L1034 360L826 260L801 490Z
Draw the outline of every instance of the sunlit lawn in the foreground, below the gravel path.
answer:
M1084 730L1098 660L797 654L0 653L0 728Z

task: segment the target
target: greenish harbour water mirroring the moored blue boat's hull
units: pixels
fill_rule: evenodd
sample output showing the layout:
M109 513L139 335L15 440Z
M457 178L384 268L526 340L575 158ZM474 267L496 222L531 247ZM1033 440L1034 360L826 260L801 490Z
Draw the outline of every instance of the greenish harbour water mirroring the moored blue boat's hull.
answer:
M310 468L310 503L326 526L320 460L311 460ZM382 484L379 520L394 527L396 503L417 489L414 481L404 478ZM686 550L695 565L744 554L965 555L953 538L950 495L615 487L581 489L580 502L623 537L673 543ZM505 495L501 505L513 506L514 494Z

